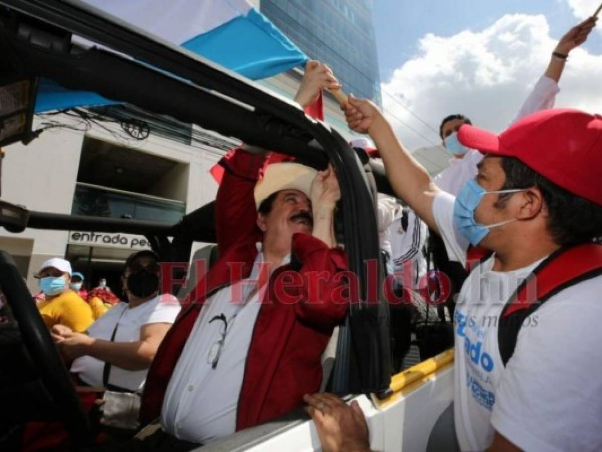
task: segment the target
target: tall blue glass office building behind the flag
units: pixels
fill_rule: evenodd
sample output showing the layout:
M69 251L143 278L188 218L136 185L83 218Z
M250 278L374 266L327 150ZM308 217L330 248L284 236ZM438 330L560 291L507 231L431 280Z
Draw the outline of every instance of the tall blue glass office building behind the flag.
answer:
M381 105L372 0L261 0L259 5L305 54L332 68L344 91Z

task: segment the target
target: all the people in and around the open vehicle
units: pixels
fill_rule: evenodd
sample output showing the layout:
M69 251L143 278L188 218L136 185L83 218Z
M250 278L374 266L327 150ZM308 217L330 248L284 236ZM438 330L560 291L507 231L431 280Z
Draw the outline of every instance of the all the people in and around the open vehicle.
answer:
M526 280L580 246L582 259L600 259L587 245L602 231L602 117L552 108L569 52L595 23L585 20L560 39L502 134L462 114L446 116L440 134L452 159L433 179L374 104L350 96L344 105L350 129L375 143L352 146L382 159L396 193L376 200L383 264L389 274L409 265L415 277L391 287L413 294L410 306L391 310L391 329L408 335L393 346L396 371L412 321L428 309L419 281L435 267L453 280L454 303L439 320L453 320L460 450L602 448L602 391L591 378L602 339L598 273L565 282L537 305L539 327L516 332L507 356L498 351L497 327L479 323L505 315L510 280ZM310 61L296 101L309 112L321 90L337 88L329 67ZM75 385L99 388L104 404L88 406L99 431L112 427L105 433L124 438L160 419L160 428L121 450L190 450L304 403L323 450L370 450L358 404L317 392L327 377L323 352L348 309L340 277L347 256L334 228L337 175L268 154L240 147L220 161L219 259L194 299L161 294L151 251L125 262L126 302L106 285L85 291L84 275L62 258L40 267L40 314ZM479 247L488 251L469 273ZM232 262L240 265L233 270ZM473 359L473 347L489 361Z

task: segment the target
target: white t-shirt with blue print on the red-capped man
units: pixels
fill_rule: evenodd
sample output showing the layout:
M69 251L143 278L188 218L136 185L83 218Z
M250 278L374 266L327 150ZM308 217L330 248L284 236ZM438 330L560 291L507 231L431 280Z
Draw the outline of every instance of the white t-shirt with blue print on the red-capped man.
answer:
M435 221L450 258L465 262L467 242L453 226L455 197L441 193ZM602 276L551 297L528 317L504 368L501 310L539 264L470 274L454 315L455 423L464 451L485 450L494 433L527 451L602 450Z

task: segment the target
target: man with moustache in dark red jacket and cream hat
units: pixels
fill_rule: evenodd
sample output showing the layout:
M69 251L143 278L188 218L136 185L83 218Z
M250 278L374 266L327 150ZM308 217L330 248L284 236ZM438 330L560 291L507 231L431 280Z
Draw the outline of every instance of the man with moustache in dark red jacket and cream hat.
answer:
M322 379L320 356L346 315L332 168L237 150L216 199L220 259L155 356L141 418L149 448L194 447L296 407Z

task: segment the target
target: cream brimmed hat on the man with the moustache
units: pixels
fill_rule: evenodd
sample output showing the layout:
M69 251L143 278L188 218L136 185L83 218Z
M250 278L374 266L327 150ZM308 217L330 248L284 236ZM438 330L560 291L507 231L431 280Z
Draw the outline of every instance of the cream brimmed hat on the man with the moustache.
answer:
M272 163L265 167L263 179L255 185L255 206L270 195L281 190L299 190L307 197L311 194L311 183L317 171L300 163Z

